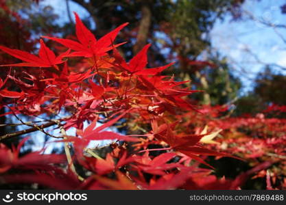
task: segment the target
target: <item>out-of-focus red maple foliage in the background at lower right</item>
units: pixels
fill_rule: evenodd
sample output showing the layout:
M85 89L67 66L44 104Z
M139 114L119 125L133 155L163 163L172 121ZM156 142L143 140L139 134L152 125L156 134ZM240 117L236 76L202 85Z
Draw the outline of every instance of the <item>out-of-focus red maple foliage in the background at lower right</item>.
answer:
M204 116L193 111L184 113L183 132L212 133L203 141L207 148L235 153L250 167L268 163L252 180L264 180L265 189L286 189L286 121L272 115L285 112L285 106L270 105L263 113L240 117L226 115L229 107L206 105L199 110Z

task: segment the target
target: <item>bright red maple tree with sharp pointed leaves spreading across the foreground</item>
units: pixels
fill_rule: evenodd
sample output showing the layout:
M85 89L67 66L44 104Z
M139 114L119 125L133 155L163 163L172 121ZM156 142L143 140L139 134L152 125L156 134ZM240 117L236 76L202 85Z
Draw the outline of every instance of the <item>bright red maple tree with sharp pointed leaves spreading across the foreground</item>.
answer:
M64 143L65 152L43 154L44 148L19 156L27 138L16 148L1 144L1 182L38 183L53 189L240 189L250 176L263 175L275 161L260 163L257 160L248 172L227 179L213 175L215 167L206 161L206 156L238 161L252 159L254 153L246 156L241 149L258 144L281 159L284 148L281 133L285 133L285 126L278 127L277 120L265 119L270 121L267 122L270 131L274 130L273 126L277 128L273 134L281 137L277 141L271 138L265 144L265 141L253 139L249 144L247 138L246 141L235 141L232 137L215 140L221 129L226 135L230 129L235 129L231 135L238 135L238 127L244 126L246 119L213 120L226 108L193 105L188 96L200 91L182 87L189 81L175 81L174 76L162 74L174 63L147 68L150 44L126 62L117 50L123 43L115 44L115 38L127 23L97 40L76 13L75 21L77 40L43 36L65 47L64 52L50 49L43 39L40 39L38 55L0 46L1 51L23 61L2 67L8 66L11 70L28 67L21 76L10 72L1 79L1 108L6 110L3 115L12 115L22 125L30 127L2 135L0 140L40 131L55 138L53 143ZM78 63L71 64L75 59ZM206 64L202 61L190 63ZM17 85L17 91L5 87L8 81ZM52 118L37 121L47 116ZM25 118L32 120L25 122ZM132 122L131 126L126 125L125 119ZM247 126L254 126L252 132L261 132L259 119L262 118L247 119ZM86 128L85 122L88 122ZM59 133L45 130L51 126ZM114 131L119 127L140 132L128 135ZM263 127L262 133L265 129ZM106 145L108 153L101 154L102 148L94 142L102 140L112 140ZM240 150L225 149L226 141L243 146ZM265 153L257 153L253 148L252 151L256 152L255 157L263 157ZM15 169L21 172L10 172ZM285 178L280 178L279 182L285 188Z

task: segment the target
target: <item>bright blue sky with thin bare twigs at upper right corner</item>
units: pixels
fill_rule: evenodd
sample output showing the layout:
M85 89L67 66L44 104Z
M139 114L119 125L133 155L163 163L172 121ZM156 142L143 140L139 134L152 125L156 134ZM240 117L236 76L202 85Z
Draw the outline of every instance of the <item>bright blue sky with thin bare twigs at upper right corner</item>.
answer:
M243 10L252 13L257 19L286 24L286 14L281 14L280 10L283 3L286 3L285 0L247 0ZM243 81L244 92L251 90L253 79L263 69L263 64L259 64L250 53L254 53L263 63L286 67L286 44L278 36L286 38L286 29L275 29L266 27L259 20L234 22L228 17L224 22L218 21L211 31L213 47L228 57L233 72ZM246 52L246 49L251 52Z

